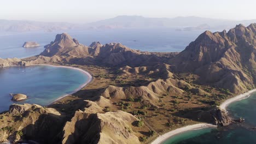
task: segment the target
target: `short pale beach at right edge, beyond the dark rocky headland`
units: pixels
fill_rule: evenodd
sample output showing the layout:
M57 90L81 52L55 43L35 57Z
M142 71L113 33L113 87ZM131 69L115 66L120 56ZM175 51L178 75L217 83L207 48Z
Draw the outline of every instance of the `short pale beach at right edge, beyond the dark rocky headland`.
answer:
M240 95L237 95L236 97L227 99L222 104L220 104L219 107L223 110L226 110L226 107L228 107L231 103L234 103L235 101L239 101L242 99L246 99L246 98L250 97L250 95L254 92L256 92L256 89L253 89L251 91L248 91L248 92L240 94Z

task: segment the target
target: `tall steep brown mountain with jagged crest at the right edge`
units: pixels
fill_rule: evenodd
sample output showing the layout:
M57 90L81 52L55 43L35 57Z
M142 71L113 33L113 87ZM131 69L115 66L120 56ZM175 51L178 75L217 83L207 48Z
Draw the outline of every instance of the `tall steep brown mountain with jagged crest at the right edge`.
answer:
M202 33L184 51L170 59L175 73L194 73L198 83L248 91L256 82L256 23L226 31Z

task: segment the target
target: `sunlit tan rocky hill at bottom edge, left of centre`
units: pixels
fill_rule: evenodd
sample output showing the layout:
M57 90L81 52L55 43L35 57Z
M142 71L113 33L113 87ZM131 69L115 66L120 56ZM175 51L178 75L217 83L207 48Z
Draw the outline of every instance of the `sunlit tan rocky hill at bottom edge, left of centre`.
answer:
M106 100L106 98L101 98ZM63 128L62 143L139 143L132 122L138 119L124 111L104 113L103 107L85 101L84 111L76 111ZM129 131L130 129L130 131Z

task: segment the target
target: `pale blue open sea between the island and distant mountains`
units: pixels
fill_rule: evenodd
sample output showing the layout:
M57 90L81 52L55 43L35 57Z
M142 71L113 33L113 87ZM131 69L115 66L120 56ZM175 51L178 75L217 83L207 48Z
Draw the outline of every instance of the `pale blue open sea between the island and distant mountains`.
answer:
M203 30L176 31L175 29L105 29L54 32L0 32L0 58L25 58L38 55L44 46L54 41L56 34L67 32L80 44L89 46L94 41L101 44L122 43L131 49L152 52L182 51ZM41 46L24 48L25 41L36 41Z

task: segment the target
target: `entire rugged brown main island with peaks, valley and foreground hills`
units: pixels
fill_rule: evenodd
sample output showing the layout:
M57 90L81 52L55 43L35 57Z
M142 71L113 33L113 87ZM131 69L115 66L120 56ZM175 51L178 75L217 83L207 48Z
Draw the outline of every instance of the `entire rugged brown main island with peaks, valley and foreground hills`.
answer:
M255 39L256 23L237 25L206 31L180 53L161 53L120 43L85 46L57 34L40 55L0 59L0 65L65 65L94 79L46 107L11 105L0 115L0 142L150 143L186 125L235 123L219 105L255 89Z

